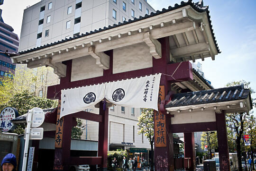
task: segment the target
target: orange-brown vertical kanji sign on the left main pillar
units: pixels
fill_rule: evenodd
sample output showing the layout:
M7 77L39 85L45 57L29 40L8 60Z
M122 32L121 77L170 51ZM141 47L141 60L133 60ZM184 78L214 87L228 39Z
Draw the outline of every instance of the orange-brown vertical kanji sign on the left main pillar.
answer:
M58 102L58 110L57 110L57 120L56 120L56 133L55 133L55 148L62 147L62 135L63 135L63 125L64 118L60 118L61 111L61 100Z

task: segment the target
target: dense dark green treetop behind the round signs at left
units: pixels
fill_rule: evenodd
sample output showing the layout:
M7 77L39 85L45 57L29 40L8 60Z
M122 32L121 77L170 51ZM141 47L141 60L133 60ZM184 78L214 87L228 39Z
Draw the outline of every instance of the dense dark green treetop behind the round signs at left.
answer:
M7 106L16 108L19 115L24 115L28 110L34 107L39 107L41 109L57 107L57 102L54 100L35 96L33 93L29 93L27 90L25 90L14 94L13 97L6 103L0 104L0 111L2 111ZM19 125L13 132L17 134L24 134L24 129L24 126Z

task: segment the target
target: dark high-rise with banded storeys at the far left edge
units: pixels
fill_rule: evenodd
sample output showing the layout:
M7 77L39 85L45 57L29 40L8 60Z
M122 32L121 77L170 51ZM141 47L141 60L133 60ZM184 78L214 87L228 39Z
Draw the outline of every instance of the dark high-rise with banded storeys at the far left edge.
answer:
M0 5L3 0L0 0ZM16 52L18 51L18 35L13 33L13 28L4 23L0 9L0 51ZM9 56L0 53L0 77L8 76L15 73L16 64L13 64ZM0 83L1 84L1 83Z

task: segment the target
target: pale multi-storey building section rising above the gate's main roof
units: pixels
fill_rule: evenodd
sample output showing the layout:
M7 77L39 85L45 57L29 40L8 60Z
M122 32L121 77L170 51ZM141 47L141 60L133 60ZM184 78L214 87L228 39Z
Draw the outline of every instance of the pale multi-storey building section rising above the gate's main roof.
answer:
M19 51L151 12L146 0L41 0L24 9Z

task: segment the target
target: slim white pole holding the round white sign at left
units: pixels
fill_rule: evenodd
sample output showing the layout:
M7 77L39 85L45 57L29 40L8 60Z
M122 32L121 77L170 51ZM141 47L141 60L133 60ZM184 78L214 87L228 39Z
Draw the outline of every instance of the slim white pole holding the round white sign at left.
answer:
M25 148L24 148L24 155L23 155L22 171L26 171L26 166L27 166L27 149L28 149L28 143L29 143L31 117L32 117L32 110L29 110L27 113L27 132L26 132Z

